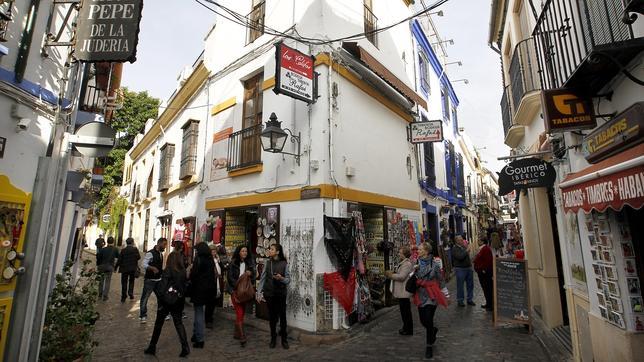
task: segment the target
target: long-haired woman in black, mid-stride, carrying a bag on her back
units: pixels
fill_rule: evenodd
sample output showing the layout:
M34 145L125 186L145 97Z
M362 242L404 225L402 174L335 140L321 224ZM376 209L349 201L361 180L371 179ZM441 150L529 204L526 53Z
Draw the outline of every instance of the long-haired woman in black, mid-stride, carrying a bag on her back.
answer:
M186 357L190 354L186 329L183 326L181 313L185 302L186 292L186 269L183 265L183 256L176 251L168 255L168 264L163 270L162 280L156 285L158 299L157 319L154 321L154 331L148 348L143 351L145 354L156 354L157 342L161 335L163 323L166 316L171 315L174 328L177 330L179 342L181 342L181 354L179 357Z

